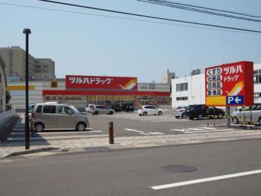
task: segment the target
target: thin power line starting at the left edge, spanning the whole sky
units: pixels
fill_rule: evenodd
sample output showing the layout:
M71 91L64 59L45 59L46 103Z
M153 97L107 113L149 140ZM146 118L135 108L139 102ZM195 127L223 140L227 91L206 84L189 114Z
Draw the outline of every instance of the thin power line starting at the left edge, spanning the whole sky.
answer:
M121 19L121 20L133 20L133 21L139 21L139 22L150 22L150 23L161 24L161 25L171 25L171 26L179 26L179 27L192 27L192 28L203 29L203 30L213 30L213 31L222 31L222 32L237 32L237 33L242 33L242 34L259 34L259 33L255 33L255 32L241 32L241 31L236 31L236 30L216 29L216 28L200 27L200 26L192 26L192 25L182 25L182 24L175 24L175 23L170 23L170 22L159 22L159 21L155 21L155 20L142 20L142 19L135 19L135 18L123 18L123 17L113 16L113 15L102 15L102 14L95 14L95 13L83 13L83 12L79 12L79 11L66 11L66 10L61 10L61 9L42 8L42 7L37 7L37 6L25 6L25 5L20 5L20 4L8 4L8 3L3 3L3 2L0 2L0 4L1 5L6 5L6 6L16 6L16 7L21 7L21 8L39 9L39 10L44 10L44 11L58 11L58 12L63 12L63 13L72 13L72 14L81 14L81 15L93 15L93 16L99 16L99 17L105 17L105 18L116 18L116 19Z

